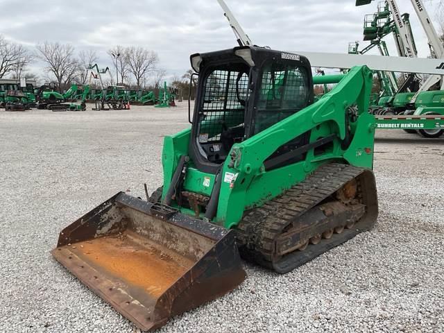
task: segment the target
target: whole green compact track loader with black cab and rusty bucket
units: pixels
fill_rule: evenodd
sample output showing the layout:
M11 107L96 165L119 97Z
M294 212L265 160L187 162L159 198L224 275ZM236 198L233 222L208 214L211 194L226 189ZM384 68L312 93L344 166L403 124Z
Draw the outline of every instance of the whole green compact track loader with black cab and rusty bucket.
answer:
M237 287L240 257L287 273L377 218L367 67L314 103L297 54L242 46L191 65L192 125L164 139L163 186L113 196L52 251L142 330Z

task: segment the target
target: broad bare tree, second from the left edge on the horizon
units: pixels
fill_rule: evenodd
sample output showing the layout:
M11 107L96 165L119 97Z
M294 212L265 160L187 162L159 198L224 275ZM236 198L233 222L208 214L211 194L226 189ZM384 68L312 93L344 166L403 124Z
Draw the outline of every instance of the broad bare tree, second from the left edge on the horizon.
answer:
M46 62L46 71L56 78L60 92L78 74L79 64L70 44L44 42L37 45L39 58Z

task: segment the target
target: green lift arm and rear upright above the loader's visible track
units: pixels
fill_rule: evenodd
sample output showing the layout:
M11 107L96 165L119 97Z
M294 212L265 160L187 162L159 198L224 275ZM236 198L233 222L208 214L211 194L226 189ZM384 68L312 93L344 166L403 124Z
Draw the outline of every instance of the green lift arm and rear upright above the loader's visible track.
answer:
M244 210L262 205L278 196L285 189L304 180L319 165L332 160L345 160L352 165L373 167L374 122L368 114L372 73L367 67L355 67L332 92L276 123L271 128L232 148L234 165L227 160L223 167L223 183L216 222L225 228L239 223ZM350 123L350 133L345 114L355 107L357 121ZM316 133L325 123L330 123L330 133L336 134L333 148L322 154L307 152L305 161L265 171L264 162L282 145L312 130ZM327 133L325 133L327 134ZM342 148L341 142L350 135L350 144ZM323 137L323 136L321 136ZM319 137L311 135L310 142Z

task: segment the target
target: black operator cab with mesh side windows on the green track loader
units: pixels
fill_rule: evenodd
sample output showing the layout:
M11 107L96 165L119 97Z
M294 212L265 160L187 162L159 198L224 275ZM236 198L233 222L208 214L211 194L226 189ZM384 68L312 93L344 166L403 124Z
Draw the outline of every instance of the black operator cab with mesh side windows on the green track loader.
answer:
M313 103L311 66L293 53L242 46L194 54L191 67L199 78L189 153L205 172L216 173L233 144Z

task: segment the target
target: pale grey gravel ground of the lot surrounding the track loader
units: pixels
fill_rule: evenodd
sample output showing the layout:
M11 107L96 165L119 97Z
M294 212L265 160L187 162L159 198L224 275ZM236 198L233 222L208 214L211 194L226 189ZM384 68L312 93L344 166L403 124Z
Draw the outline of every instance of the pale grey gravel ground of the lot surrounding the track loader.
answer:
M185 103L0 112L0 332L137 332L49 250L117 191L153 191L186 119ZM246 264L236 291L159 332L444 332L444 139L388 130L375 150L375 230L287 275Z

